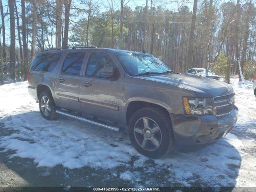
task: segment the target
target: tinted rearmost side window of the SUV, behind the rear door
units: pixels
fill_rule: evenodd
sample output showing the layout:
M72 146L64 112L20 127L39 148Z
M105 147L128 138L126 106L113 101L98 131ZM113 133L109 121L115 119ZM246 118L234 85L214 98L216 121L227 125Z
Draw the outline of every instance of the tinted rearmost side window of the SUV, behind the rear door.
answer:
M34 59L31 70L52 72L63 53L40 53Z

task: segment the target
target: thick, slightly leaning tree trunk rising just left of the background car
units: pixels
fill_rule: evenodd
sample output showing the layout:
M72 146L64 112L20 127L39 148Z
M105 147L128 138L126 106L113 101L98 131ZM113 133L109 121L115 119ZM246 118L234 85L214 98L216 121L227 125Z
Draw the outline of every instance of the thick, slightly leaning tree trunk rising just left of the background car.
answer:
M188 63L187 63L188 65L186 66L186 68L193 66L193 45L194 45L194 33L195 33L195 27L196 27L196 11L197 11L197 0L194 0L193 15L192 15L189 44L188 44Z

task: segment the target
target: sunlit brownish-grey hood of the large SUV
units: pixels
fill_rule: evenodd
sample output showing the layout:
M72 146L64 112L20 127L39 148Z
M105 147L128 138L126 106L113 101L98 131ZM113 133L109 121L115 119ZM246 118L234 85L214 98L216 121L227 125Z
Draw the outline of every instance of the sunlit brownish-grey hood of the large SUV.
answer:
M166 74L139 76L138 78L189 89L194 91L198 97L212 98L233 92L233 88L229 84L201 76Z

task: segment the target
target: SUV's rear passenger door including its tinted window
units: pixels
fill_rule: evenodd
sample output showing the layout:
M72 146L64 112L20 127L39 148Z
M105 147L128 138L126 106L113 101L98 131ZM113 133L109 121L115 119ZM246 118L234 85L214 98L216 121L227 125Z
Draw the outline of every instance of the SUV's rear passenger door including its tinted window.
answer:
M69 52L56 78L57 106L80 111L79 91L85 51Z

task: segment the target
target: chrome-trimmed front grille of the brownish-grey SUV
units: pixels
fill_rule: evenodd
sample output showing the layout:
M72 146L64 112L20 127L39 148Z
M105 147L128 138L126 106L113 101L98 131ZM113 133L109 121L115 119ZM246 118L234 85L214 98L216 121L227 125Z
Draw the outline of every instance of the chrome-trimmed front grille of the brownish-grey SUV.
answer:
M229 114L234 109L234 93L214 97L216 116Z

